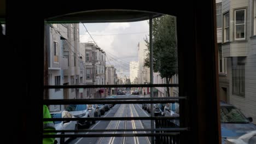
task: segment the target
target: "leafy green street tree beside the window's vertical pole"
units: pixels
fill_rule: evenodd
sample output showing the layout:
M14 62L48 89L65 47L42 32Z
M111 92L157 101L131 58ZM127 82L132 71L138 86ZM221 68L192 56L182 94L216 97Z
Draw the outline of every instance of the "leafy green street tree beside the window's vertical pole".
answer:
M175 19L173 16L164 15L153 19L153 70L159 72L166 83L170 83L171 77L177 73L177 44ZM144 67L150 67L149 40L145 39L148 52L144 61ZM167 96L170 97L170 89L167 87Z

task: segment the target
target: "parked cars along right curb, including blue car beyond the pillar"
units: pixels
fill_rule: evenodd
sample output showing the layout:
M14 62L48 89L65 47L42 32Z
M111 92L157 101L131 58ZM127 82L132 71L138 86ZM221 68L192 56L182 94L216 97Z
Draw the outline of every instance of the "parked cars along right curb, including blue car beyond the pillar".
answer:
M142 104L142 108L150 113L150 104ZM179 103L154 104L154 116L179 116ZM179 120L169 122L179 127ZM252 117L246 117L234 105L220 101L220 125L222 143L256 143L256 124Z

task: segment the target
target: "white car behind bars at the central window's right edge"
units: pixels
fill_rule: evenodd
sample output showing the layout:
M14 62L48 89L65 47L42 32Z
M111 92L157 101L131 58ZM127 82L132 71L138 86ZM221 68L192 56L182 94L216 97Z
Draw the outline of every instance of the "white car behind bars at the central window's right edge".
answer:
M166 117L178 117L179 103L167 103L164 108L164 115ZM170 119L170 122L179 126L179 119Z

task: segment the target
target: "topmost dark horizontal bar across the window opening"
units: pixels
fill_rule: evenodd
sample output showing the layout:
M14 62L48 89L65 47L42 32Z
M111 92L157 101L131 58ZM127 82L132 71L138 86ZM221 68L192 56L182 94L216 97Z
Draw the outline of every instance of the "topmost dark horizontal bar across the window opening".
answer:
M178 87L179 84L143 84L143 85L67 85L67 86L44 86L45 89L53 88L107 88L107 87Z

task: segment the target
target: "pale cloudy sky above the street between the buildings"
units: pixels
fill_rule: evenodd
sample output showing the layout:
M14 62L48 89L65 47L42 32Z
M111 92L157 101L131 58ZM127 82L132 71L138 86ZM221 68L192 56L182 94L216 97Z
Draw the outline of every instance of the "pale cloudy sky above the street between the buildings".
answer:
M120 75L129 74L129 62L138 61L138 43L149 35L148 21L118 23L84 23L97 45L106 52L106 65L114 65ZM93 41L82 23L79 24L80 43ZM109 61L108 61L109 60Z

